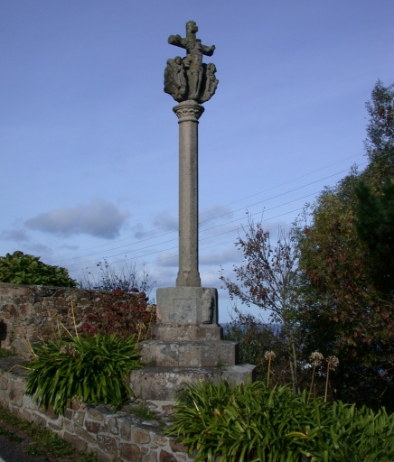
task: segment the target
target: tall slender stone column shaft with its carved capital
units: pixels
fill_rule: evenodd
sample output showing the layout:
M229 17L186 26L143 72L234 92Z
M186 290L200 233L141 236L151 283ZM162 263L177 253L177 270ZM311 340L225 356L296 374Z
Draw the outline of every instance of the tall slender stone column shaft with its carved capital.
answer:
M192 100L174 106L179 120L179 272L177 287L201 287L198 244L198 119Z

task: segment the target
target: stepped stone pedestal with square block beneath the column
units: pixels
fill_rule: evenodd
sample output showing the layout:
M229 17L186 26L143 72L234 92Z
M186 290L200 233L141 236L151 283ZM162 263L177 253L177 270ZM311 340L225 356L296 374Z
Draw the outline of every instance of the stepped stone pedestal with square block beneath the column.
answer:
M202 379L253 381L255 366L239 365L238 344L221 339L216 289L169 287L156 297L153 340L139 344L146 366L130 376L137 397L172 401L183 383Z

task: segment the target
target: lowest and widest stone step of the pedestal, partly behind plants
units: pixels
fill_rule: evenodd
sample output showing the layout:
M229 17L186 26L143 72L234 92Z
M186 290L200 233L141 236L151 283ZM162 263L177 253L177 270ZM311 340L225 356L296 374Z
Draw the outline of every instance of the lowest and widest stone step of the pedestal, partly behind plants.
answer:
M253 382L256 366L232 365L230 367L145 367L130 374L129 384L137 398L143 400L171 401L176 399L183 383L210 380L219 383Z

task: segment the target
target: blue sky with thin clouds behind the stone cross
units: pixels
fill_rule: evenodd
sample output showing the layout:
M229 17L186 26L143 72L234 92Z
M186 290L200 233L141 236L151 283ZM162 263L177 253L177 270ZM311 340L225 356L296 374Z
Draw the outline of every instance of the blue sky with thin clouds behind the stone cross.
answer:
M167 43L196 21L220 80L200 136L200 271L220 287L246 210L286 226L366 161L365 102L394 81L391 0L0 0L0 254L172 286L178 124ZM220 319L229 300L220 291Z

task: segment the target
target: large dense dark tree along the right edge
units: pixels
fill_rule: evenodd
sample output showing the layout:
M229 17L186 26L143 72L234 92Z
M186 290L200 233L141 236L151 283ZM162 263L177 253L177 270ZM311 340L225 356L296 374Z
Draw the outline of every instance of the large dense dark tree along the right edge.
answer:
M326 188L299 236L305 302L300 323L308 345L324 342L340 357L335 388L342 399L394 409L393 86L378 81L370 115L365 171ZM324 346L326 347L326 346Z

